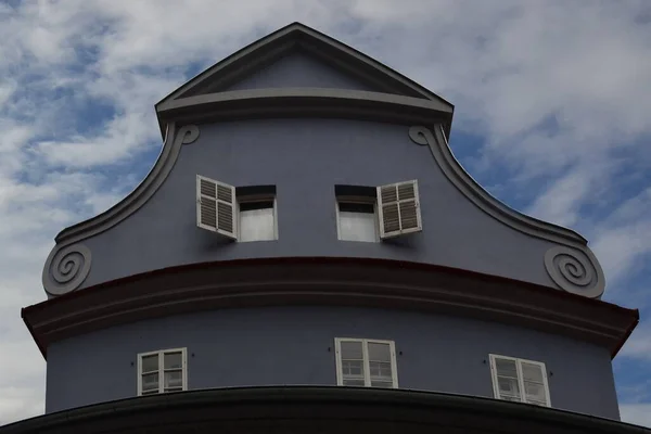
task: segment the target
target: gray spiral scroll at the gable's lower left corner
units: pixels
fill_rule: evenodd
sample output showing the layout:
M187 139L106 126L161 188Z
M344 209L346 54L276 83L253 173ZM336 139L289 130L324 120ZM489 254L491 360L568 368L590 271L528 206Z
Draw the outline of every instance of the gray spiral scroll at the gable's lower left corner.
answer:
M52 295L74 291L90 272L90 250L84 244L54 248L43 268L43 286Z

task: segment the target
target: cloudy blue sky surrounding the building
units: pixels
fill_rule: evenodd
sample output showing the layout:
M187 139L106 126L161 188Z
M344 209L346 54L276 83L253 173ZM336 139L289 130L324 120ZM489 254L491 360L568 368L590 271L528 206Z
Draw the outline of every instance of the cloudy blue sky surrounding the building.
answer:
M454 103L462 166L589 240L603 299L640 309L613 369L622 418L651 426L649 0L0 0L0 425L43 412L20 309L54 235L144 178L157 101L294 21Z

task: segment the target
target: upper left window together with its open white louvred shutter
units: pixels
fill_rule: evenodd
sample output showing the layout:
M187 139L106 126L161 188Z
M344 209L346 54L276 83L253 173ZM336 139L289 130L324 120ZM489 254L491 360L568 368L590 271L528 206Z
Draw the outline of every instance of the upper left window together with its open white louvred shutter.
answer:
M196 225L242 242L277 240L276 187L235 189L197 176Z

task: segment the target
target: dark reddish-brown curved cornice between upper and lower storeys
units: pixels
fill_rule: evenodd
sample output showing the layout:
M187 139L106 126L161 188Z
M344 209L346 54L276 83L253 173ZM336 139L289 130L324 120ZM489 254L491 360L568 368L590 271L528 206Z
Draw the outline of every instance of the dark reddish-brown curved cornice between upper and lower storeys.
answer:
M639 319L547 286L455 268L370 258L284 257L170 267L26 307L43 357L53 343L168 315L251 306L341 305L499 321L603 346L614 357Z

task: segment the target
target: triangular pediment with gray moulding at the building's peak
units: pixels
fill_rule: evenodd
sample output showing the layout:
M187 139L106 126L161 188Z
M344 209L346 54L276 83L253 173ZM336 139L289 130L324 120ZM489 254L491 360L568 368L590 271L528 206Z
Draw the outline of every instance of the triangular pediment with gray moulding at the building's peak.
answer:
M156 104L233 90L337 88L437 101L441 97L359 51L299 23L207 68Z

